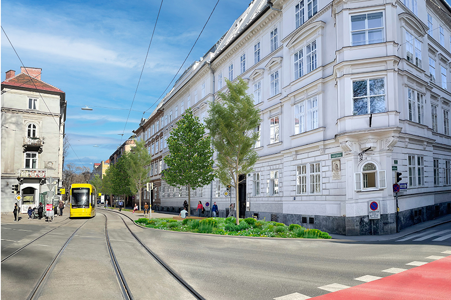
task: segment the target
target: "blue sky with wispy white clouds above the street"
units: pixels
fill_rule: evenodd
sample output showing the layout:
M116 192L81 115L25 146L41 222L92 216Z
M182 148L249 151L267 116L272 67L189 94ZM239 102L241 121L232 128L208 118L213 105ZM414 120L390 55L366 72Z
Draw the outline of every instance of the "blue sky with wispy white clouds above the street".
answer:
M216 43L250 2L219 0L176 79ZM72 148L65 163L92 169L93 163L107 160L121 144L119 134L124 132L124 142L141 118L149 117L216 1L163 0L134 101L161 0L1 3L2 27L24 65L42 68L41 79L66 92L65 131ZM22 64L3 31L1 41L3 81L6 71L18 74ZM93 110L81 110L85 105Z

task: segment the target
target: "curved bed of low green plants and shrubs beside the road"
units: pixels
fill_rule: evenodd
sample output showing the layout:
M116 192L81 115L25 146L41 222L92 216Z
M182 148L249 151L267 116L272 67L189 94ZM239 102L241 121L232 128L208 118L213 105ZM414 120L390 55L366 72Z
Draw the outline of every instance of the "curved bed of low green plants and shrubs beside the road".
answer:
M204 219L175 220L172 218L139 218L137 224L156 229L212 233L220 235L262 236L262 237L288 237L288 238L332 238L329 233L318 229L307 229L299 224L289 226L274 221L256 220L252 217L240 219L214 217Z

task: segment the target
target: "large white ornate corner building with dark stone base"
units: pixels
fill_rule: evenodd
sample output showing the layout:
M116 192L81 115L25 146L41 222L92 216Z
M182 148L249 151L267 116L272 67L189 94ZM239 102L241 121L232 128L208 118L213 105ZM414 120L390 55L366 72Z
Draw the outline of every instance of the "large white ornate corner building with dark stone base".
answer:
M159 122L164 157L182 111L203 121L224 78L240 76L262 118L260 159L238 188L241 217L394 233L396 171L407 187L399 229L451 213L450 24L444 0L255 0L178 79L157 107L164 115L145 122ZM215 180L191 201L216 201L223 216L224 190ZM154 192L157 210L187 198L164 180ZM380 219L370 220L374 200Z

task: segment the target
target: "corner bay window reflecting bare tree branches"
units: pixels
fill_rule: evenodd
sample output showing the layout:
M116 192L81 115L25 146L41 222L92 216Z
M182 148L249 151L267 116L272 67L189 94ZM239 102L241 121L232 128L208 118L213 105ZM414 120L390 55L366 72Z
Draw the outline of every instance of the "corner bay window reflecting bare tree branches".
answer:
M354 115L386 111L384 79L352 82Z

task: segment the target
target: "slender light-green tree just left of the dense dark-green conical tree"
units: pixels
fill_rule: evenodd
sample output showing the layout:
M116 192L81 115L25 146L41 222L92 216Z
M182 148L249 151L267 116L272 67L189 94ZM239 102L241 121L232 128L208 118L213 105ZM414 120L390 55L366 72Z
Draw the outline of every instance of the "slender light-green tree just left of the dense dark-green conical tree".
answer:
M135 146L127 154L127 169L130 182L130 190L133 194L138 192L139 195L139 210L141 210L141 196L142 185L149 181L149 170L147 165L152 161L144 141L140 140L135 143Z

